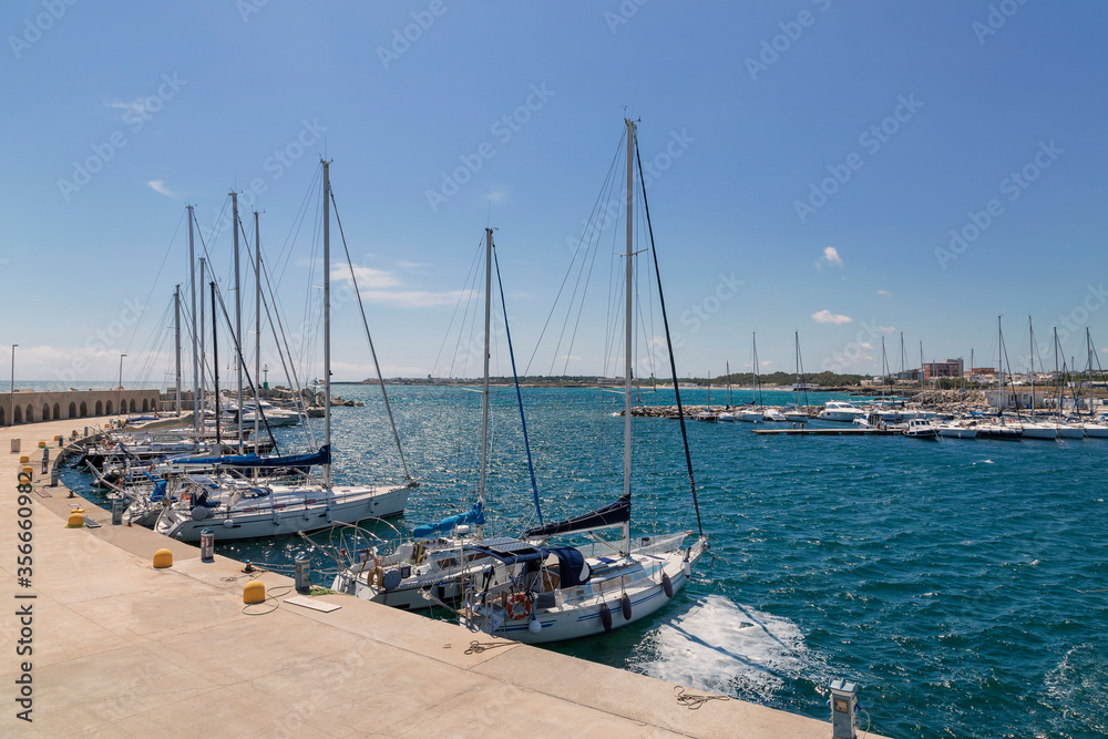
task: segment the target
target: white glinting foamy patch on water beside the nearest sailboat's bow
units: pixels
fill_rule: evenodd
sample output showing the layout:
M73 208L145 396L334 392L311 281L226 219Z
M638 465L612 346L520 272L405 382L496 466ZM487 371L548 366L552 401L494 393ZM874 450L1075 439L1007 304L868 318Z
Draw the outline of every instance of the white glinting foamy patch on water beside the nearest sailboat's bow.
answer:
M813 669L796 624L719 595L647 634L628 667L667 682L769 702ZM818 678L817 678L818 679Z

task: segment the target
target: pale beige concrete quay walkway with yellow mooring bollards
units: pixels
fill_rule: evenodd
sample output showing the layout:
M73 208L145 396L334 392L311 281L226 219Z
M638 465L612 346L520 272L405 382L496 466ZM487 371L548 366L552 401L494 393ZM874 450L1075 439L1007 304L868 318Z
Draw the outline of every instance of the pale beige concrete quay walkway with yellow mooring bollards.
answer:
M276 609L246 615L240 563L202 563L195 547L112 526L109 512L42 486L38 442L51 444L52 461L54 434L73 428L0 430L0 736L831 736L830 721L739 700L689 710L670 684L524 645L468 654L475 637L464 628L349 596L314 598L341 605L325 614L285 603L288 593L249 608ZM16 562L19 454L9 440L19 437L35 471L31 587L19 586ZM103 526L65 528L78 503ZM173 567L154 569L162 547ZM28 604L33 655L20 657L14 614ZM32 723L17 718L23 661Z

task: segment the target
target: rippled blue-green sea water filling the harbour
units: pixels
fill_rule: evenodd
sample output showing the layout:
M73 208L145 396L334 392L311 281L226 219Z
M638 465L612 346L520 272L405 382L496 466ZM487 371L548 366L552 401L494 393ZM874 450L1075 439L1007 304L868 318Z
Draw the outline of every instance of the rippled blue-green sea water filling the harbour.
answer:
M388 391L421 481L390 524L468 510L480 393ZM334 412L336 480L399 481L380 390L334 393L366 402ZM486 533L516 534L537 522L520 413L514 389L491 394ZM524 388L523 399L543 520L615 500L623 397ZM636 402L671 404L674 393ZM696 531L679 423L633 427L634 530ZM308 449L305 437L280 431L290 450ZM862 728L869 719L891 737L1108 736L1108 441L758 437L748 423L689 423L688 437L714 557L654 617L551 649L821 720L828 681L847 678L860 685ZM335 568L298 537L218 551L285 571L307 553L325 586Z

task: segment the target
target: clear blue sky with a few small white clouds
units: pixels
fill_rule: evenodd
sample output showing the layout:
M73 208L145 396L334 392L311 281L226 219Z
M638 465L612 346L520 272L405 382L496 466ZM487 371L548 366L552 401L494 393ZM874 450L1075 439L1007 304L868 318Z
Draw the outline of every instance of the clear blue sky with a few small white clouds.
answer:
M1108 348L1106 20L1038 0L8 2L0 345L21 378L109 379L127 352L125 378L163 380L184 203L211 228L233 187L304 325L326 150L386 373L431 371L486 224L530 355L626 106L644 158L679 153L649 196L683 376L746 368L753 331L766 370L791 370L794 331L809 371L876 371L882 337L895 369L902 331L910 365L920 341L994 365L999 314L1015 369L1028 316L1084 367L1086 326ZM229 233L209 246L226 285ZM571 372L601 371L604 322ZM367 377L353 311L335 336L336 377Z

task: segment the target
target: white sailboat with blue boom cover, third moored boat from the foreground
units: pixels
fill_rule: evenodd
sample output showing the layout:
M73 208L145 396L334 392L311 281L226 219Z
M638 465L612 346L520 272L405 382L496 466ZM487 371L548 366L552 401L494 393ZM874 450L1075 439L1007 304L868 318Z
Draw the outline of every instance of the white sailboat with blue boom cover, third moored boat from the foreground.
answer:
M165 506L154 528L184 542L198 542L209 530L216 541L279 536L328 528L334 522L355 523L403 513L416 481L402 485L335 485L331 482L331 306L330 306L330 162L324 167L324 445L319 450L322 481L302 485L224 486L178 493ZM237 224L236 224L237 228ZM214 284L213 284L214 285ZM213 290L214 291L214 290Z

